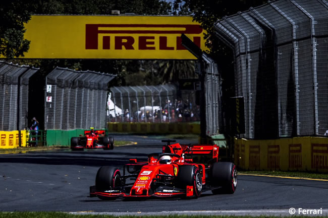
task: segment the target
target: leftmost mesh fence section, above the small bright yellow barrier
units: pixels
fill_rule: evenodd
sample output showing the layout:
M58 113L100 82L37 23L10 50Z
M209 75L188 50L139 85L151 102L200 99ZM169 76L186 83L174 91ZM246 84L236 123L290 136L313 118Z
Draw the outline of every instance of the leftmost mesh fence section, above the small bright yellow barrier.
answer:
M0 61L0 130L27 128L29 79L37 70Z

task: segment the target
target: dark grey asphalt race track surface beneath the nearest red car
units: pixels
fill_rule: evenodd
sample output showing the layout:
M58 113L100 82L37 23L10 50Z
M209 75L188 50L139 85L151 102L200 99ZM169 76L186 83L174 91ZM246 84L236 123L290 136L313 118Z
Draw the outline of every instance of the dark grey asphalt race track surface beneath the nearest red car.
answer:
M63 149L0 155L0 211L119 212L133 214L202 211L276 211L289 215L288 209L323 209L328 214L328 182L258 176L238 176L234 194L203 192L198 199L154 198L138 200L100 200L90 198L100 166L122 167L130 158L147 160L147 154L160 153L162 138L115 135L116 140L137 141L111 151ZM181 143L196 143L178 140ZM250 211L250 212L249 212ZM278 211L278 212L277 212ZM131 213L132 212L132 213ZM270 212L264 214L271 214ZM285 214L286 213L286 214ZM165 214L161 212L160 214Z

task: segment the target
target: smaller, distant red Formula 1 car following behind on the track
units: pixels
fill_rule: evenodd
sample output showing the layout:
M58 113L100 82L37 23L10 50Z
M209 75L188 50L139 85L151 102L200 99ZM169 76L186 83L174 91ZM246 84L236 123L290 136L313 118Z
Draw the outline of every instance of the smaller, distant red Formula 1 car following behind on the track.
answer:
M84 136L71 138L71 149L73 151L83 149L114 149L114 138L105 134L105 130L84 131Z

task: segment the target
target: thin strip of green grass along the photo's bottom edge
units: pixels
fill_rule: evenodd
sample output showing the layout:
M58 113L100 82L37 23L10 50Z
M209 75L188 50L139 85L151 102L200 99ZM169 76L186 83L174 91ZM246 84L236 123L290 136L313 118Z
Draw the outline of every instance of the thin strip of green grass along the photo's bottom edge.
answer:
M288 214L289 215L289 214ZM64 212L0 212L0 218L109 218L109 217L120 217L120 218L139 218L139 217L156 217L156 218L254 218L254 216L245 215L245 216L219 216L219 215L120 215L120 216L114 216L114 215L89 215L89 214L70 214L70 213L64 213ZM255 216L260 218L277 218L277 216ZM279 217L279 216L278 216ZM302 218L305 217L313 217L313 216L302 216ZM319 216L319 217L325 217L328 216Z

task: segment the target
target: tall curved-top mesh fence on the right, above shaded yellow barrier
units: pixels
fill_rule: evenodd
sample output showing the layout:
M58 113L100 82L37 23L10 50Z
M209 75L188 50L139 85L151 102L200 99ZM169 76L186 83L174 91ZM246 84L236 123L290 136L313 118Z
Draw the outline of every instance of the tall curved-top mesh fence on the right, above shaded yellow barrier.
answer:
M233 48L246 138L324 135L328 129L328 3L280 0L214 27Z

